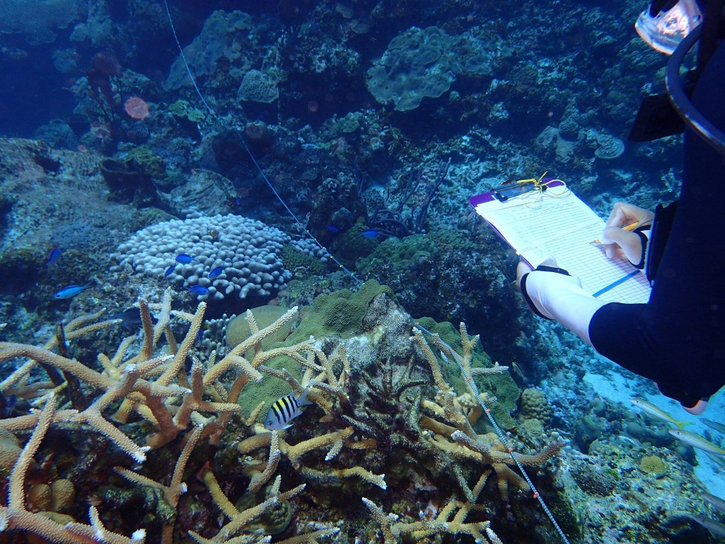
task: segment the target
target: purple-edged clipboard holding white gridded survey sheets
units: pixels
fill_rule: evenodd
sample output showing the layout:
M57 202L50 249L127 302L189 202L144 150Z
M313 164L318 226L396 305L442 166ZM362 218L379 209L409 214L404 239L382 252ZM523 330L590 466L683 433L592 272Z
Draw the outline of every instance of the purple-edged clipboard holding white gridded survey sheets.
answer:
M513 182L469 202L531 268L555 257L593 297L630 304L650 300L652 287L642 271L628 260L609 259L591 243L605 221L560 179Z

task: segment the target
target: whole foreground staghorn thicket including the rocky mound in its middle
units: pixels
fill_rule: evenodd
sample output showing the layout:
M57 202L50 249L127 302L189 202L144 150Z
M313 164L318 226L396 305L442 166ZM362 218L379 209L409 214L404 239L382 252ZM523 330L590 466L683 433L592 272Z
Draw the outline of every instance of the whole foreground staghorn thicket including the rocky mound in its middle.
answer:
M345 539L353 534L373 539L379 529L366 523L370 514L353 506L363 496L370 498L368 512L373 517L389 511L398 516L389 526L380 523L388 542L428 542L455 534L494 539L485 520L498 499L489 505L480 498L494 473L500 485L519 487L518 475L508 467L510 455L491 436L476 432L480 407L471 395L456 395L450 387L445 377L450 369L442 370L449 361L431 364L435 355L430 347L426 352L410 338L412 322L403 319L405 313L384 290L376 291L363 312L362 331L353 337L299 341L282 334L269 342L294 321L297 309L263 327L248 312L246 338L223 357L210 354L206 363L194 353L204 303L193 312L175 310L170 292L160 302L140 300L141 334L99 355L96 365L62 355L65 342L59 339L42 348L2 343L0 360L30 358L17 361L24 370L4 382L6 392L25 391L36 396L36 402L57 399L60 404L50 414L0 420L0 428L16 433L43 419L43 425L38 424L41 431L55 437L69 434L78 442L68 450L45 440L40 450L26 445L21 457L28 466L28 458L67 458L67 469L59 465L43 478L70 480L75 486L76 496L65 510L72 519L86 515L80 508L86 501L96 505L91 524L83 526L95 527L96 536L86 544L128 539L123 535L135 527L118 519L120 511L129 519L144 519L149 540L164 544L188 537L199 543L268 542L278 531L275 540L288 544L319 542L333 535L340 543L349 542ZM79 330L96 334L114 324L99 319L86 316L69 323L65 341L75 342ZM180 324L186 326L183 337L176 333ZM465 328L462 334L465 368L480 368L474 374L484 378L503 371L472 364L477 338L468 337ZM461 357L434 337L438 347L436 342L446 358ZM362 359L358 353L349 357L347 347L356 344L367 346L370 353ZM30 371L40 363L76 376L88 406L63 405L70 402L63 387L54 393L49 393L51 384L28 387ZM279 383L296 394L307 388L315 405L290 429L268 432L255 424L265 403L239 404L260 388L260 380ZM107 454L84 456L76 448L86 440L76 440L78 436L105 444ZM518 458L540 466L556 450L552 445ZM142 463L133 466L133 461ZM111 467L115 471L109 471ZM30 497L17 476L22 470L28 472L14 469L9 505ZM281 474L286 490L281 489ZM107 489L85 483L99 477ZM471 478L473 487L468 484ZM437 490L436 506L427 517L418 515L427 500L419 493L431 490ZM43 493L38 487L38 494ZM55 532L39 532L35 522L41 514L35 509L28 507L27 514L12 511L9 527L75 544L77 540L59 532L66 527L59 522L51 522ZM106 529L101 528L101 517ZM30 522L18 521L21 518ZM387 514L381 519L388 519ZM335 525L340 523L344 530L337 532Z

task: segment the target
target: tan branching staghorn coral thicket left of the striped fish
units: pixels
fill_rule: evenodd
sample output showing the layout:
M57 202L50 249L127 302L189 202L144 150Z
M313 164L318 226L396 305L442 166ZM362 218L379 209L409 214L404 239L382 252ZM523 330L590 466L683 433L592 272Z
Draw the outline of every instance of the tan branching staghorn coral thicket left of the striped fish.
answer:
M310 341L271 350L260 349L261 340L273 334L276 329L294 317L296 308L289 310L282 318L264 329L259 329L249 314L252 331L249 339L241 342L219 361L215 361L212 357L208 368L204 368L201 363L195 361L191 365L190 374L186 373L187 361L189 358L194 359L191 349L196 340L196 334L202 326L205 304L203 302L199 304L193 314L172 310L170 293L167 292L159 304L149 305L146 301L141 300L138 308L142 323L142 339L137 353L131 353L136 344L135 339L124 339L115 350L114 355L99 355L99 364L103 368L100 372L91 368L90 365L87 366L78 360L54 352L54 348L59 350L60 342L57 339L48 342L45 347L0 342L0 362L28 358L25 363L20 364L19 370L6 379L0 387L4 387L5 392L20 394L22 391L28 391L32 395L39 394L41 398L46 399L46 407L40 413L0 420L0 428L12 432L35 427L31 439L14 463L8 485L8 504L0 506L0 529L23 529L52 542L64 544L77 542L117 544L143 540L143 531L134 533L132 537L124 537L105 529L100 522L95 506L91 507L89 514L91 525L73 521L55 522L43 514L26 509L25 474L28 472L28 466L33 461L33 456L38 451L43 437L51 426L62 426L65 429L76 431L93 429L107 437L137 463L146 461L149 450L160 450L182 435L186 440L186 445L181 450L177 461L171 464L174 469L173 474L170 474L168 485L162 483L161 479L151 478L142 471L131 471L123 466L116 467L117 474L130 482L149 487L157 492L166 503L164 511L170 512L170 514L167 516L159 514L159 519L162 521L162 542L169 544L174 537L179 500L188 488L183 482L183 473L194 446L203 437L207 437L212 444L218 442L220 435L230 423L231 416L241 411L241 407L236 403L239 393L249 383L253 383L252 380L261 377L257 368L272 358L285 356L291 361L320 370L321 373L314 376L314 382L318 385L323 379L326 379L326 376L333 376L331 369L325 370L324 364L318 365L314 362L319 350ZM151 315L152 311L156 312L155 324ZM77 338L115 323L114 321L91 323L97 318L99 318L97 315L86 316L70 323L65 327L65 339ZM189 323L186 335L181 341L177 341L172 331L171 323L174 318ZM165 347L160 345L163 337L167 339ZM249 353L253 354L249 359L244 355L248 350L251 350ZM162 353L164 351L166 353ZM327 361L324 356L321 360L323 363ZM81 411L68 408L57 410L59 394L44 392L42 387L25 386L30 371L35 366L42 366L50 371L57 369L65 376L75 376L84 384L85 394L93 394L96 397L91 399L88 407ZM227 385L229 380L231 380L231 385ZM340 395L340 387L343 382L344 379L336 379L335 382L326 384L327 390ZM54 389L63 390L64 387ZM325 388L320 390L325 390ZM108 416L107 413L111 415ZM144 421L144 425L152 425L152 429L146 434L146 445L144 446L138 445L126 434L128 430L122 431L118 425L138 421L136 415L140 417L141 421ZM247 420L247 424L252 424L250 420L251 418ZM188 431L190 424L194 424L194 426L191 431ZM271 435L268 434L268 436ZM331 436L329 440L318 437L315 441L326 443L333 450L339 450L342 440L344 440L344 433ZM254 474L252 482L249 483L250 489L259 489L274 476L280 455L276 437L271 443L268 443L268 446L270 446L269 460L262 471ZM291 455L296 458L304 453L305 448L306 446L298 445L297 450L291 449ZM247 524L254 516L273 507L277 500L293 497L303 487L304 485L299 485L293 490L280 492L277 480L276 496L257 505L245 516L233 516L230 524L219 532L219 538L223 537L223 540L228 540L233 535L239 535L234 538L243 541L245 535L240 533L246 531ZM331 535L334 532L333 529L318 528L307 535L299 535L295 541L316 542L318 537ZM204 541L204 539L199 537L199 541Z

